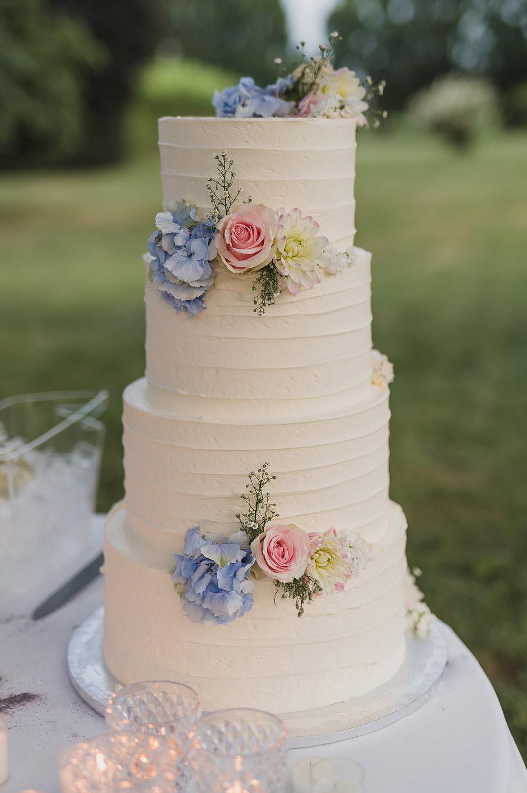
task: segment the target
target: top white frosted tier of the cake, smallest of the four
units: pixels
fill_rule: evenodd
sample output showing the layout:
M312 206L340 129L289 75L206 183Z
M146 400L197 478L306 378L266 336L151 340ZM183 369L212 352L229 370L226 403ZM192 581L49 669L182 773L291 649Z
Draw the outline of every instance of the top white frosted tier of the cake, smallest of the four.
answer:
M272 209L301 208L332 245L354 242L355 128L351 119L161 118L165 208L180 197L205 213L214 154L233 159L236 185Z

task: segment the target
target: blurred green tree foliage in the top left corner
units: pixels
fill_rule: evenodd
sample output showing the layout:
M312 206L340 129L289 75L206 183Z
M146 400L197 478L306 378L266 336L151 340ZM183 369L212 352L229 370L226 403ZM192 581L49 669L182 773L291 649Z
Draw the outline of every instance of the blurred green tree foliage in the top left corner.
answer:
M82 142L82 90L104 61L85 26L42 0L0 3L0 166L57 163Z

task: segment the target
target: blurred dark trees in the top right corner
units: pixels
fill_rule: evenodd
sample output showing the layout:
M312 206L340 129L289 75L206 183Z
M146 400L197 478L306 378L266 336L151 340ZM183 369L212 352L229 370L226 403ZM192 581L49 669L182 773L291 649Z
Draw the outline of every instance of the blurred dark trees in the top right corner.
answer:
M505 92L527 78L525 0L342 0L328 29L339 59L385 77L385 106L400 109L438 75L485 75Z

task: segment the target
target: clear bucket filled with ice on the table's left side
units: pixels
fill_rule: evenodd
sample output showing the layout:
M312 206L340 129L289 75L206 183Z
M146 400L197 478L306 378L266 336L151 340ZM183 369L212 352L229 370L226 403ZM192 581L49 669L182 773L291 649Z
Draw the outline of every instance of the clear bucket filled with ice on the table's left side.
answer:
M106 391L0 400L0 592L46 580L89 542Z

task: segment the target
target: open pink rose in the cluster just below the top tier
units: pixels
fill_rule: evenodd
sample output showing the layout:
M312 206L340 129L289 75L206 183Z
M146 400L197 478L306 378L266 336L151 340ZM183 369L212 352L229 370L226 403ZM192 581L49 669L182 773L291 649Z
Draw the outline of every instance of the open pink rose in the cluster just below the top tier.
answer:
M260 270L275 255L278 218L263 204L233 204L222 217L214 243L222 262L231 273Z

